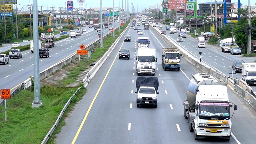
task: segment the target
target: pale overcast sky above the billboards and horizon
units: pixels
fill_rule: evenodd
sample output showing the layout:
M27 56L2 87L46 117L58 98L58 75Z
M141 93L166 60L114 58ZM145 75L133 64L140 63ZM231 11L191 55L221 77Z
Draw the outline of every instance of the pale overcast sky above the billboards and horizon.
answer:
M78 8L77 0L74 1L74 8ZM129 1L129 10L131 11L132 3L134 5L135 12L142 12L145 8L149 8L151 5L157 4L160 5L162 2L161 0L114 0L114 7L118 7L118 2L120 2L120 8L125 8L125 1L126 6L128 5L127 2ZM43 10L52 10L55 6L56 9L60 9L59 7L65 8L66 0L37 0L38 6L42 6ZM215 2L215 0L197 0L197 3L204 3L204 2ZM222 2L222 0L217 0L217 2ZM238 0L231 0L231 2L238 2ZM240 0L243 5L248 5L248 0ZM22 11L29 11L28 4L33 4L33 0L17 0L17 3L20 4L17 8L20 10L22 7ZM255 1L251 0L251 5L255 6ZM100 7L100 0L85 0L84 8L87 9L91 7ZM113 7L113 0L102 0L102 7ZM41 10L41 7L38 7L38 10Z

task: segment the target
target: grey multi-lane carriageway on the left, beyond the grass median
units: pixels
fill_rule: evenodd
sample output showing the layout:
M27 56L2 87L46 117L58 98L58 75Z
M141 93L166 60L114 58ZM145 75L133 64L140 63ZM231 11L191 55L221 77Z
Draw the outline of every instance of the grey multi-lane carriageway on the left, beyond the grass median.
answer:
M79 46L81 44L86 46L90 42L98 39L98 32L96 30L88 27L86 30L87 32L84 32L82 36L77 36L76 38L69 37L55 42L55 46L49 48L50 57L39 59L40 72L76 52L76 50L80 49ZM104 28L103 34L109 31L108 28ZM22 53L22 58L12 58L9 64L0 65L1 89L13 90L12 88L28 79L29 76L34 75L34 54L30 50L23 51Z

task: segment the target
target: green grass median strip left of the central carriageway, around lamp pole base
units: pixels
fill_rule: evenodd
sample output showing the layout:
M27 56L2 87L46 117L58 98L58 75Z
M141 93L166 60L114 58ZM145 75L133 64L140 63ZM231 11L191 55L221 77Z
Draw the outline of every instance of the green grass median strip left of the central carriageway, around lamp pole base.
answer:
M83 57L81 56L80 62L76 60L66 66L64 69L69 73L64 79L58 81L58 84L45 84L41 86L40 95L43 105L40 108L32 109L31 105L34 99L34 92L30 92L29 90L23 90L8 100L7 122L5 122L4 112L0 113L0 144L40 144L55 123L68 99L82 86L80 83L73 87L68 87L67 85L75 83L78 76L90 64L100 59L125 27L120 32L118 32L118 29L115 30L115 38L112 38L112 36L106 37L103 40L104 48L100 49L100 46L93 48L92 58L86 59L86 64L84 64L84 61L81 59ZM56 143L54 140L55 134L59 133L62 126L65 125L64 117L68 116L68 112L74 109L74 105L82 99L85 93L86 88L82 87L78 94L74 96L58 127L48 140L48 144ZM0 106L1 110L4 110L3 105Z

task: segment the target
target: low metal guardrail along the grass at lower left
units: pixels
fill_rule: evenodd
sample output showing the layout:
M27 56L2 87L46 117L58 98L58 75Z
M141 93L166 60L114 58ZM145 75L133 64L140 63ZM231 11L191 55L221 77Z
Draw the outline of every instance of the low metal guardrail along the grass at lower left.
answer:
M54 132L55 128L58 126L60 119L62 118L65 110L68 108L68 105L70 104L72 98L74 98L74 96L77 94L77 92L82 88L82 86L80 86L76 92L69 98L68 102L66 102L65 106L63 107L63 109L60 112L60 115L58 116L56 122L54 123L54 125L52 126L52 128L50 129L50 131L46 134L46 136L44 137L44 140L42 141L41 144L46 144L46 142L48 141L48 139L50 138L50 136L52 135L52 133Z

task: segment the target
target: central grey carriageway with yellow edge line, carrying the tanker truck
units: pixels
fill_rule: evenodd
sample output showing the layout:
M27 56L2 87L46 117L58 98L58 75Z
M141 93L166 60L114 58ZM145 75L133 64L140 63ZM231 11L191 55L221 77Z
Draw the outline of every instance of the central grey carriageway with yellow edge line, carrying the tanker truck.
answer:
M137 26L142 28L142 26ZM183 101L191 74L199 71L182 59L181 70L164 71L161 67L162 47L169 47L153 30L127 30L131 42L121 39L100 68L88 92L65 119L57 134L58 144L250 144L254 143L255 111L228 88L230 101L238 105L232 118L229 142L211 138L194 140L188 120L183 116ZM156 48L159 80L158 107L136 107L135 56L137 37L149 37L150 48ZM120 48L128 48L130 60L118 59Z

